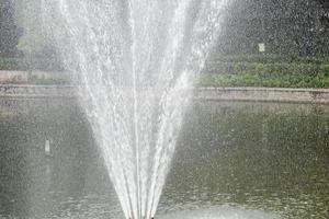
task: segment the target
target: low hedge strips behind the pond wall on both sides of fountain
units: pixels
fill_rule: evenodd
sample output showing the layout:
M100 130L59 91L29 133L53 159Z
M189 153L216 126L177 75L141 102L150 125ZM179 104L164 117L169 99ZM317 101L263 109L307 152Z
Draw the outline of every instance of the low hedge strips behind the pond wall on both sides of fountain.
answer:
M63 71L56 59L0 58L0 70ZM33 84L69 84L69 78L30 77ZM13 79L2 83L26 83ZM329 88L329 57L245 55L208 61L197 87Z

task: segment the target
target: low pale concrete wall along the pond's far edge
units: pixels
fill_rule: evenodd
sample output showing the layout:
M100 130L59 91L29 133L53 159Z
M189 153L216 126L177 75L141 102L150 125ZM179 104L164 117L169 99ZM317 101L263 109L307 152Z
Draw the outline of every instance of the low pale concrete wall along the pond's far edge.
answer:
M71 85L1 84L0 97L76 97L76 88ZM329 89L196 88L194 89L194 99L329 104Z

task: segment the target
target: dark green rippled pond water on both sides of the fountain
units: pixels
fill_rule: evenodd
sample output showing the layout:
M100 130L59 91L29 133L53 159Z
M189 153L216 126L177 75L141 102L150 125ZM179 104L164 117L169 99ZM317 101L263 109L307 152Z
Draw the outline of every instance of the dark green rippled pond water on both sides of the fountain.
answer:
M0 102L1 219L122 218L77 104ZM286 219L328 219L329 106L195 103L159 214L223 206L230 206L231 215L251 209Z

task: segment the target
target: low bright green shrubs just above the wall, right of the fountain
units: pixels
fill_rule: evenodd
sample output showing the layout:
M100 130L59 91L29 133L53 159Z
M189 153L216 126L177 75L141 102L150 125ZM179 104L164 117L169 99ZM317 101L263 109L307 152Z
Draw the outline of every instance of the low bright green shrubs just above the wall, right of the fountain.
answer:
M204 73L198 87L329 88L329 62L236 62Z

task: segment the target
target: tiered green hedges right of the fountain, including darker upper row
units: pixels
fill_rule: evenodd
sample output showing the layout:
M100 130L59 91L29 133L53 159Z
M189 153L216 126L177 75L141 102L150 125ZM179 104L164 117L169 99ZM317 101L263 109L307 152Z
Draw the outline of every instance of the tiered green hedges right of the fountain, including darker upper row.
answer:
M329 88L328 57L223 57L208 64L198 87Z

